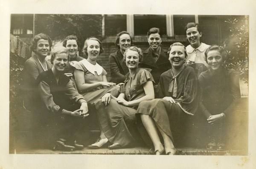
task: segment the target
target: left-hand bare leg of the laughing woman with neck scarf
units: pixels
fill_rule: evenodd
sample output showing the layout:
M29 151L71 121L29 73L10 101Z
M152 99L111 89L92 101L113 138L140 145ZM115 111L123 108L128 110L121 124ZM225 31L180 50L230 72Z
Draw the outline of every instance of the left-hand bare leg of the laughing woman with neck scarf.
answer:
M151 138L151 140L154 144L155 151L159 150L158 152L156 152L157 155L160 154L160 152L162 152L164 150L164 148L163 148L163 145L158 136L157 127L154 123L154 120L149 115L141 114L140 117L141 117L143 125L145 126L145 129L148 132L149 137Z

